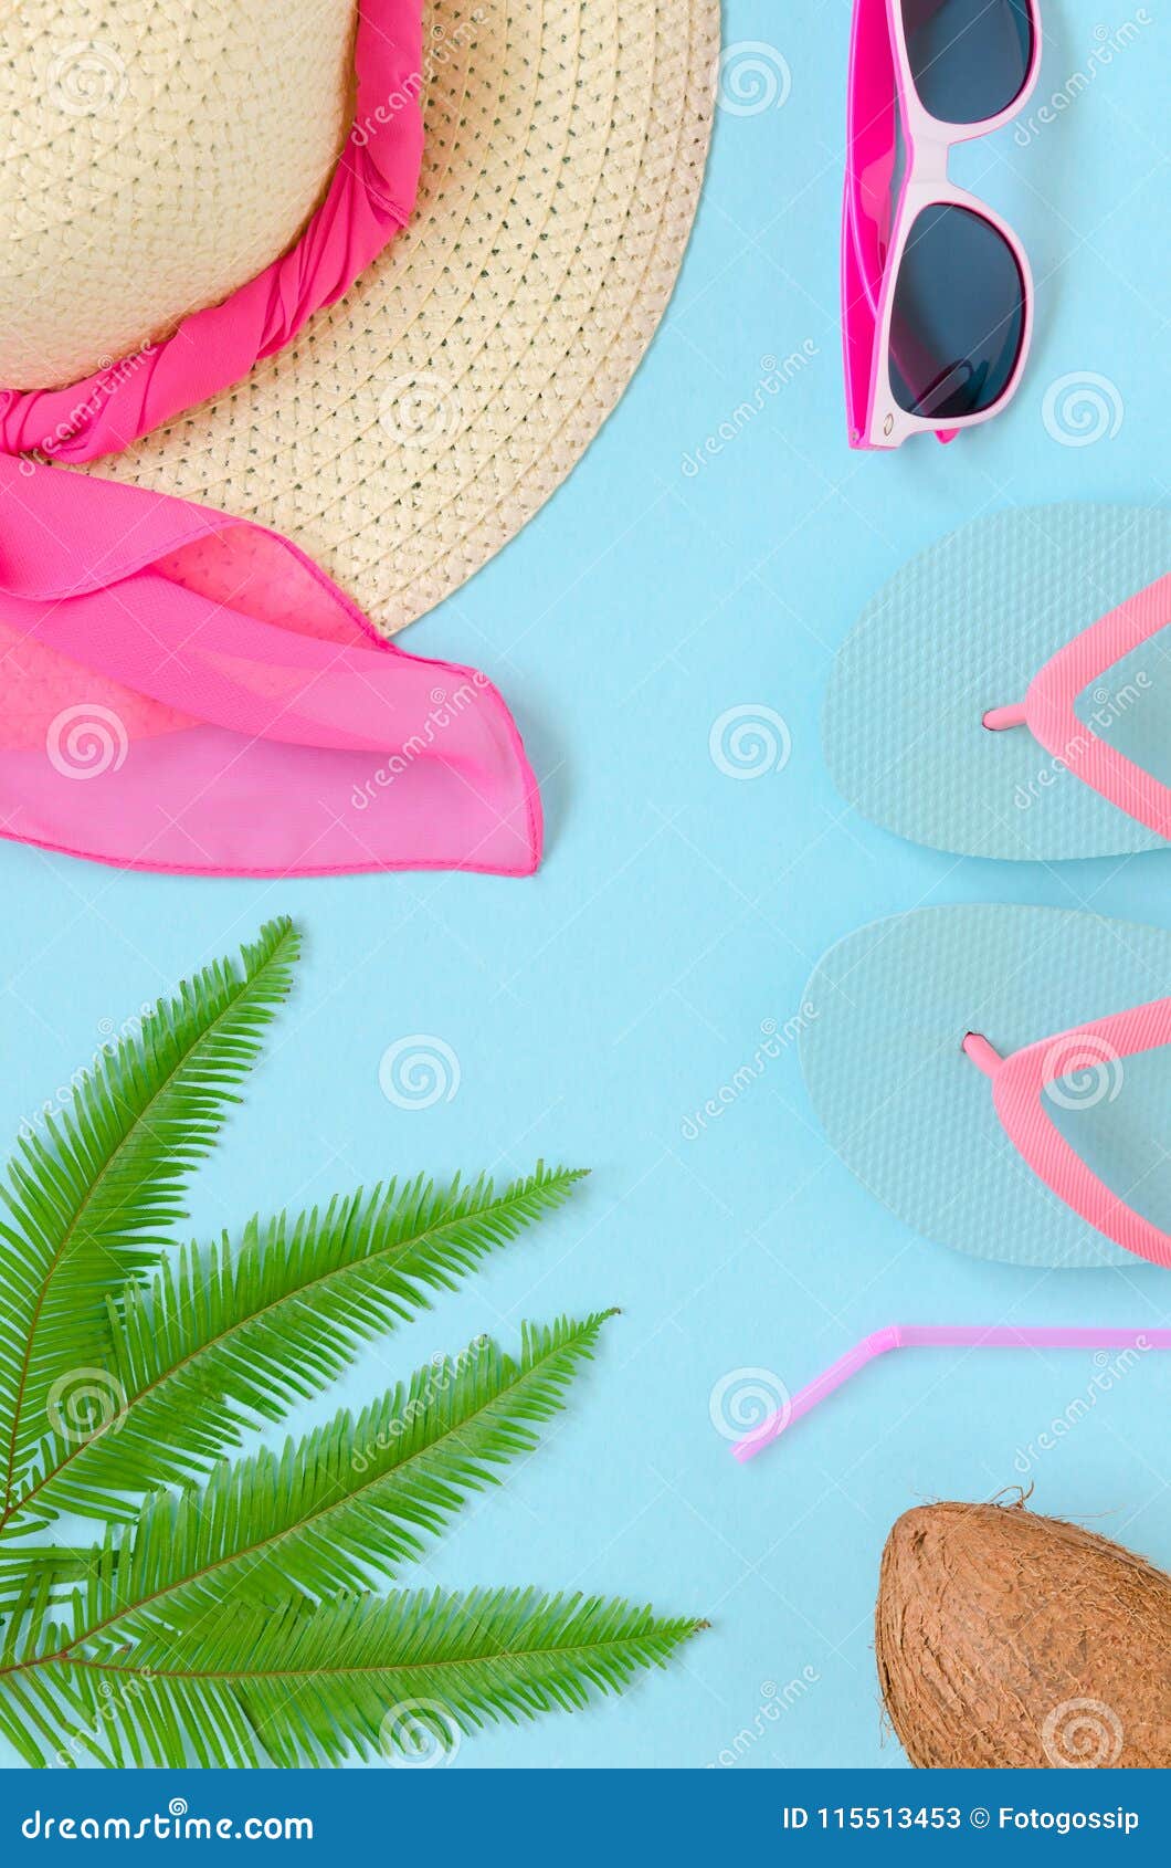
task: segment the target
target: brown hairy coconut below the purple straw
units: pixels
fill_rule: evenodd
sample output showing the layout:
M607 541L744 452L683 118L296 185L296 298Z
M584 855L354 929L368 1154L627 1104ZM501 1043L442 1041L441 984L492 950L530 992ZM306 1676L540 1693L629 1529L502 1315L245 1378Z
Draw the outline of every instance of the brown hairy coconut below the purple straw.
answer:
M915 1765L1171 1765L1171 1577L1023 1498L906 1511L874 1633Z

